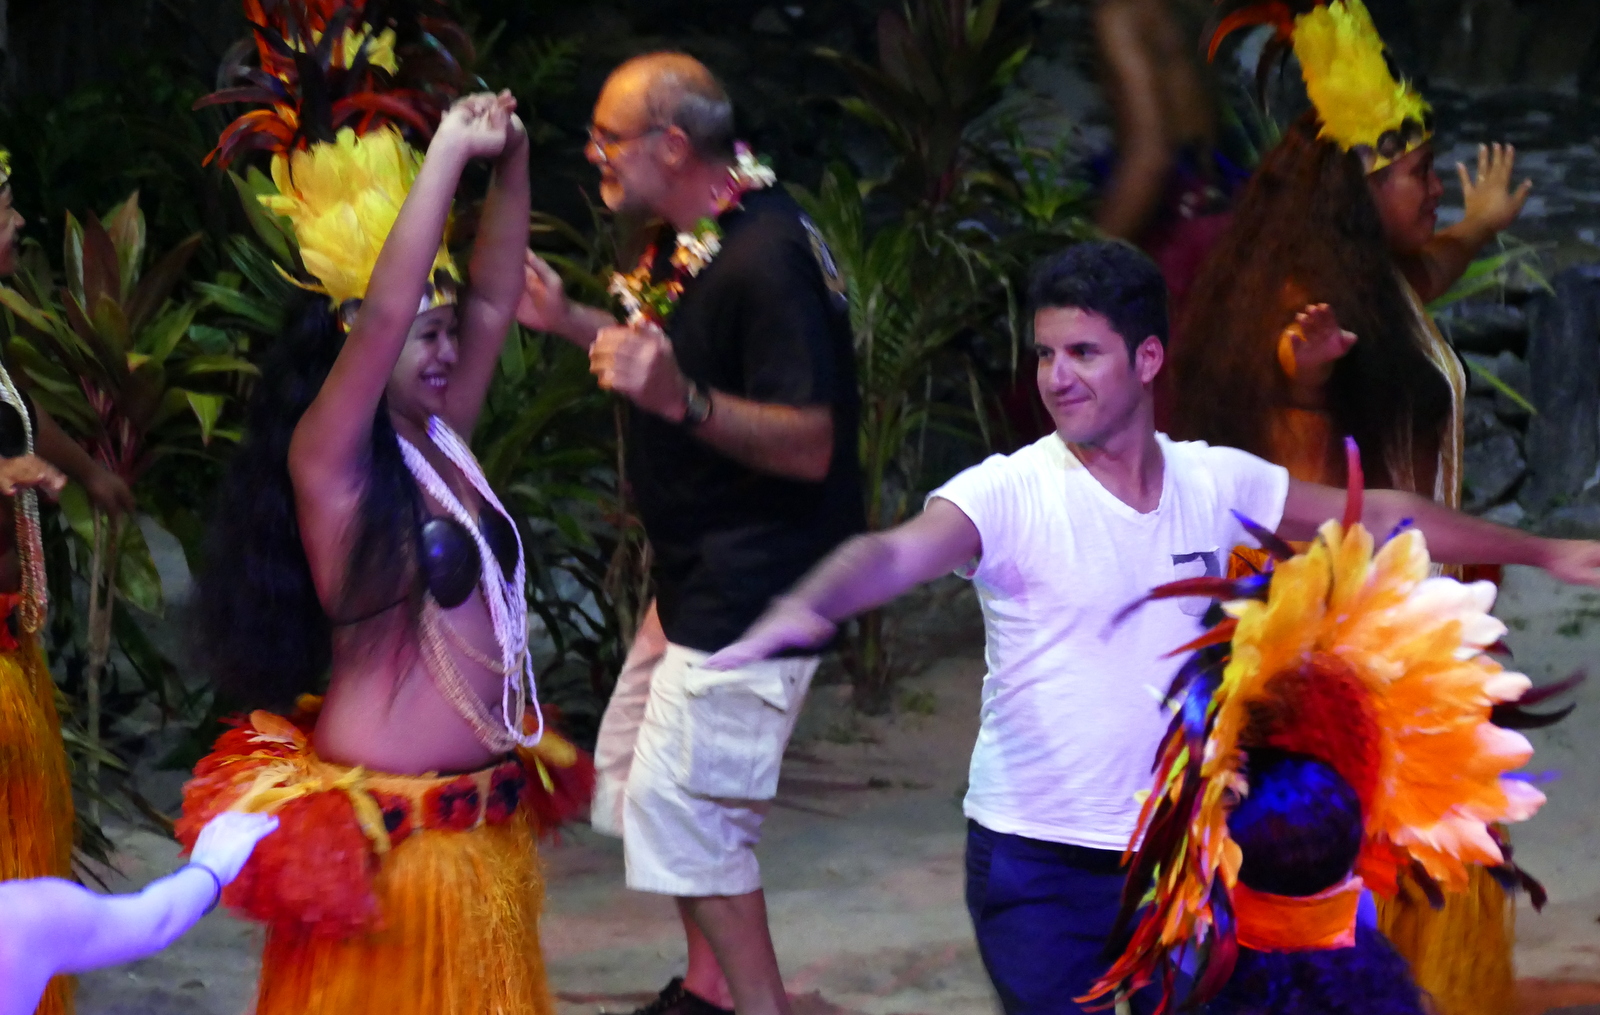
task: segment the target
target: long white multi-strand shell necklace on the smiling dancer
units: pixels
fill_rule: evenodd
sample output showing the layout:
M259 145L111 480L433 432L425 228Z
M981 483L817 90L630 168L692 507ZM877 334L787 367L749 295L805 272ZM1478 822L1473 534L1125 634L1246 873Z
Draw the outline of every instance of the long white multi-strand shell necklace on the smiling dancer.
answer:
M478 459L472 456L466 442L450 429L450 424L438 416L430 416L427 421L427 437L434 442L445 458L450 459L453 466L461 469L472 488L478 491L483 498L483 509L493 508L499 511L507 520L510 520L510 512L501 504L499 498L490 488L490 480L483 475L483 467ZM424 632L424 655L429 661L429 669L435 682L440 684L440 690L445 698L456 708L458 712L472 725L478 740L485 746L494 751L509 751L512 748L531 748L539 743L544 736L544 714L538 708L539 688L534 682L533 660L528 655L528 600L523 589L526 588L528 564L523 556L522 533L517 532L517 525L512 524L512 533L517 536L517 570L507 581L504 568L498 565L494 551L490 548L488 540L483 536L483 530L472 519L467 509L462 506L461 498L456 496L454 490L440 479L438 472L429 464L427 458L413 445L410 440L395 434L395 440L400 442L400 455L405 458L405 464L411 469L411 475L418 483L438 501L445 511L450 512L456 522L461 524L469 533L472 533L474 543L478 548L478 589L483 592L483 602L490 610L490 621L494 624L494 642L499 645L499 672L504 680L501 685L501 716L499 722L494 724L488 717L488 709L478 700L477 695L464 685L461 672L456 669L453 660L448 653L442 650L442 645L430 639ZM429 624L445 624L450 621L443 616L438 604L434 602L432 594L429 594L427 608L422 618L424 628ZM454 631L450 631L454 636ZM458 644L459 636L454 636ZM475 655L475 653L474 653ZM480 663L488 663L490 660L475 660ZM491 666L490 669L496 669ZM533 733L522 732L522 717L528 706L533 706L534 716L538 716L538 728Z

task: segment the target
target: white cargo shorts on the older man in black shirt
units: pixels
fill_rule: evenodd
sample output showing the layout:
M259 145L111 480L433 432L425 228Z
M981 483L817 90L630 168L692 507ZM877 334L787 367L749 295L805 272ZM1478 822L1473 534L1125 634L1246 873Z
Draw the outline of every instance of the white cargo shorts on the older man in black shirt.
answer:
M651 607L595 744L594 826L622 837L627 887L685 898L762 887L755 844L816 656L704 669Z

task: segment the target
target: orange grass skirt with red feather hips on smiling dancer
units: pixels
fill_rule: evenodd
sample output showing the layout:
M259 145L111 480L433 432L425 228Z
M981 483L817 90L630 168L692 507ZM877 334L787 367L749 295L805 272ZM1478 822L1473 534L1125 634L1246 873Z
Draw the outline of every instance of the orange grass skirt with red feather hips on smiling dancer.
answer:
M309 725L264 712L224 733L184 788L178 836L192 845L222 810L280 818L222 897L267 924L256 1015L552 1013L541 783L528 756L459 776L334 765Z

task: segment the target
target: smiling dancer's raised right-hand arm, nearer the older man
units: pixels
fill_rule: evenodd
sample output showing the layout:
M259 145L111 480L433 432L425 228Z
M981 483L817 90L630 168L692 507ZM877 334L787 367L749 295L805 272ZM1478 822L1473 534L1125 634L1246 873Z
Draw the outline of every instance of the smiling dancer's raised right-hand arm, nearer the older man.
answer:
M523 296L528 250L528 131L510 110L517 99L498 96L506 120L506 150L494 162L477 242L472 245L467 299L461 304L461 352L450 378L448 423L470 434L494 378L494 365Z

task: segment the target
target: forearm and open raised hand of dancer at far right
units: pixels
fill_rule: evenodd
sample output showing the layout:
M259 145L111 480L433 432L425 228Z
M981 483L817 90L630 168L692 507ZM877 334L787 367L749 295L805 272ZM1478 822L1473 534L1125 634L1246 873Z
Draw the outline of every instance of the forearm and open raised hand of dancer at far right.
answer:
M1522 215L1533 181L1525 179L1512 191L1510 175L1515 165L1517 149L1509 144L1478 146L1475 181L1467 166L1456 165L1466 215L1454 226L1435 232L1416 258L1402 261L1406 280L1422 303L1438 299L1450 291L1478 251Z

